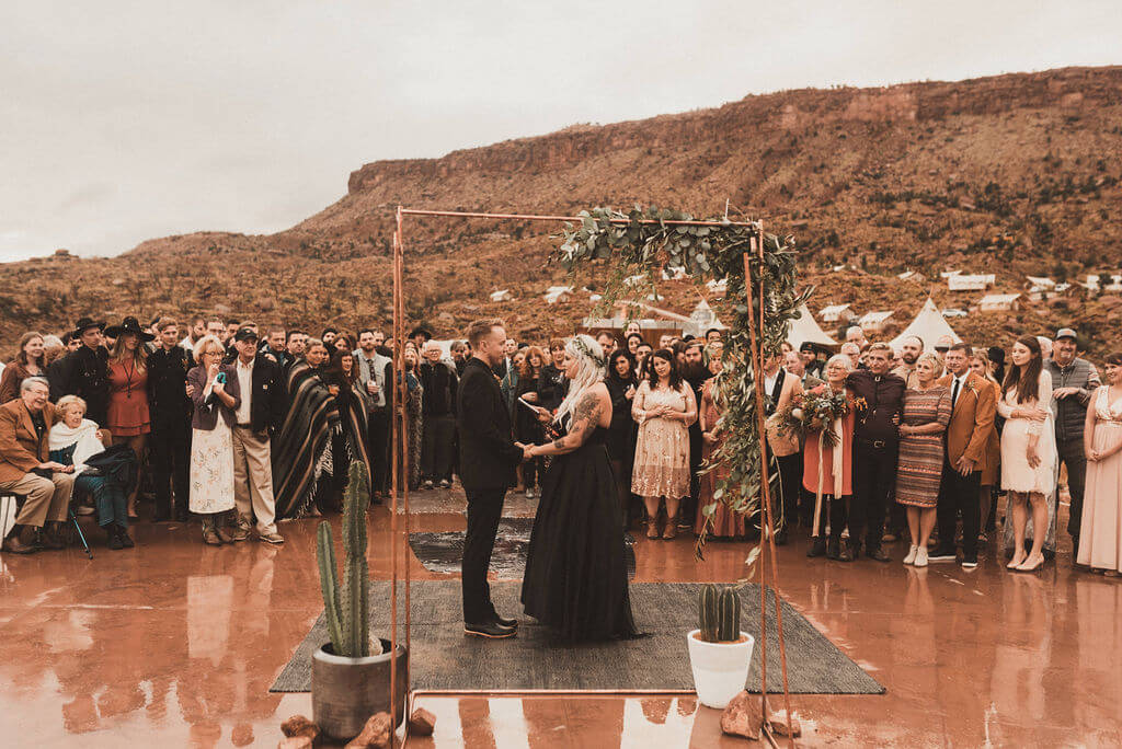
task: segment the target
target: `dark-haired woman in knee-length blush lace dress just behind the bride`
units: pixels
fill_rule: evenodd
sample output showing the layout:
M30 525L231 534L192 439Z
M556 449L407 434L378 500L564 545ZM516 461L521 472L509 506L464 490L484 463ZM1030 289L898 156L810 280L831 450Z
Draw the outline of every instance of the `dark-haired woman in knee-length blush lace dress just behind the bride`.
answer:
M646 506L646 537L659 537L659 506L666 502L663 538L678 535L678 503L690 493L690 424L697 419L693 389L678 372L674 354L651 354L647 377L632 399L638 423L632 493Z

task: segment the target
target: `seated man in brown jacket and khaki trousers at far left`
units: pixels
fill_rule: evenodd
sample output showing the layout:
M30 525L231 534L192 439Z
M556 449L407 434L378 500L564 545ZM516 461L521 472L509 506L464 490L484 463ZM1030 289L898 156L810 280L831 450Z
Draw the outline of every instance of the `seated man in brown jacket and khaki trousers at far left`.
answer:
M58 531L66 520L74 469L47 460L47 433L59 418L47 401L49 394L46 378L29 377L20 383L20 397L0 406L0 491L26 498L3 539L3 551L11 554L63 547ZM44 535L46 523L50 525Z

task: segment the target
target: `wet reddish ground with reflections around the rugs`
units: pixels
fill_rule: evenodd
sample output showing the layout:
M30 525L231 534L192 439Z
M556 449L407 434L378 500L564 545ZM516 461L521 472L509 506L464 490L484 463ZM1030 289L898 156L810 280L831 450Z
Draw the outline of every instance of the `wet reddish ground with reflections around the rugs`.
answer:
M525 501L525 500L522 500ZM439 496L426 510L440 509ZM414 529L463 527L457 501ZM389 573L389 515L370 516L371 572ZM1061 524L1063 527L1063 524ZM307 694L269 694L322 609L315 521L287 544L208 547L197 526L136 528L110 552L0 557L0 746L274 747ZM732 581L745 544L636 545L638 581ZM888 548L898 560L902 544ZM780 552L783 594L888 688L792 697L800 746L1122 746L1122 582L1058 564L1014 574L991 544L977 570L843 565ZM415 561L414 577L434 576ZM469 642L465 644L470 647ZM420 696L417 747L721 747L719 713L682 696Z

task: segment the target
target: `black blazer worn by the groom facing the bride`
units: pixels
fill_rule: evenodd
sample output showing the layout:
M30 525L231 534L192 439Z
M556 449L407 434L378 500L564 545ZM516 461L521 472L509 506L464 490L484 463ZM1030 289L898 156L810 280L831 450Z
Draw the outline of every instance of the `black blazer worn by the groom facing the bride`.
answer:
M498 378L475 357L468 360L460 378L456 424L463 488L479 491L509 487L514 469L522 462L522 450L511 437L511 414Z

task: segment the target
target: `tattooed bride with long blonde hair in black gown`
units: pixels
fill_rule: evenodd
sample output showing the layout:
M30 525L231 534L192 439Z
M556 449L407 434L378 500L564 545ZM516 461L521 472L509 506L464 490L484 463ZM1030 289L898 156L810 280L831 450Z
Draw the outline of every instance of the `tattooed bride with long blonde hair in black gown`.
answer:
M623 517L606 446L611 423L606 360L591 336L578 335L565 345L562 366L569 392L554 423L563 436L525 447L528 457L555 457L541 483L522 603L564 640L636 637Z

